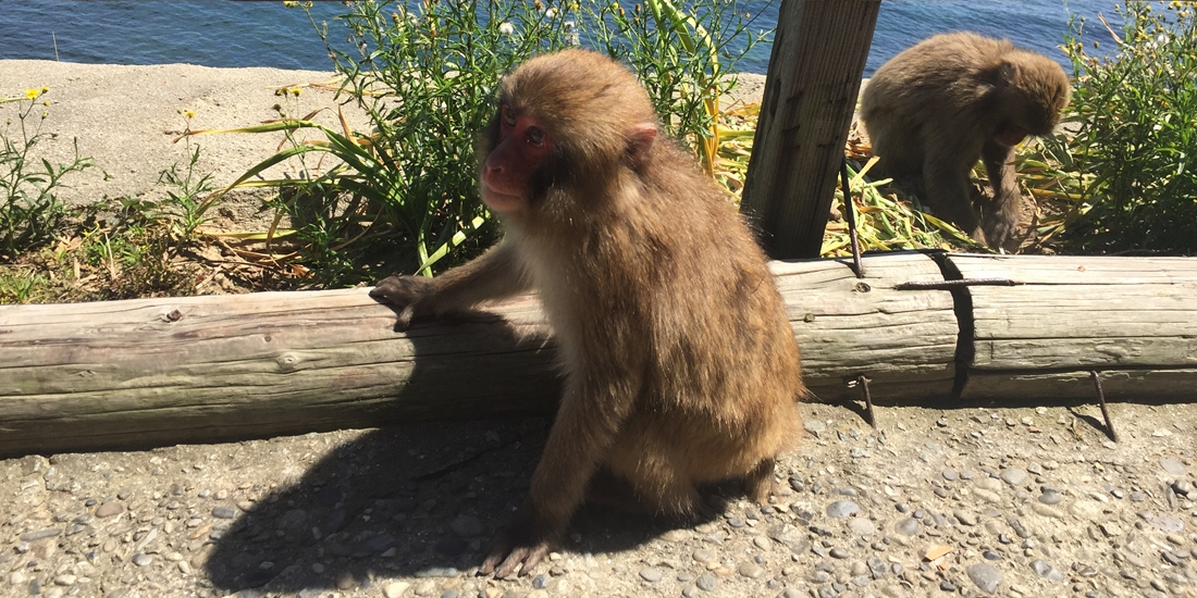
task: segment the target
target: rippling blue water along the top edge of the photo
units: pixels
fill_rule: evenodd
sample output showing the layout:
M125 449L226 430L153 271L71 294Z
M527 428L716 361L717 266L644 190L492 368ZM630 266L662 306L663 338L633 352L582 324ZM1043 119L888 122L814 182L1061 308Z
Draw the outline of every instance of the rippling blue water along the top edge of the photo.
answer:
M755 16L754 30L776 25L780 0L742 4ZM1068 30L1069 11L1088 18L1087 36L1108 41L1095 17L1102 13L1117 26L1120 20L1113 13L1114 5L1114 0L887 0L881 4L865 75L919 39L954 30L1009 37L1068 67L1059 44ZM346 11L341 2L332 1L312 7L317 23L329 23L329 37L334 39L340 38L334 17ZM739 69L765 73L768 53L770 48L761 44ZM332 68L304 12L281 2L0 1L0 59Z

